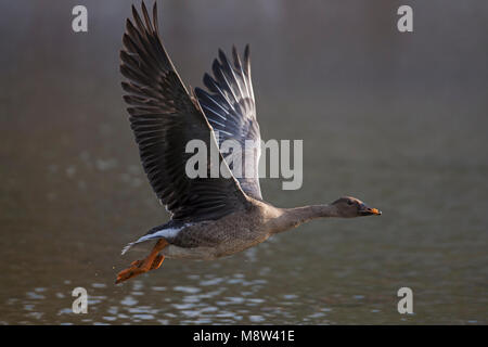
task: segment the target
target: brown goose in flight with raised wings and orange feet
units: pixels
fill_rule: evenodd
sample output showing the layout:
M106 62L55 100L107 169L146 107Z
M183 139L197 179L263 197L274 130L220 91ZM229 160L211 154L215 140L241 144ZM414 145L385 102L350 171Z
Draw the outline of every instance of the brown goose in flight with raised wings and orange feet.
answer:
M194 139L208 147L233 139L260 141L251 80L249 47L243 60L232 48L232 61L219 50L213 76L205 74L206 90L184 87L158 33L157 7L152 21L142 2L142 17L132 5L120 50L124 100L143 169L160 204L170 214L168 222L152 228L129 243L154 246L143 260L117 274L116 283L158 269L167 258L216 259L253 247L268 237L317 218L378 216L360 200L343 196L331 204L279 208L262 200L257 169L252 177L235 177L219 152L227 175L190 178L185 163L192 153L185 144ZM260 151L245 163L256 168ZM207 167L207 170L210 168Z

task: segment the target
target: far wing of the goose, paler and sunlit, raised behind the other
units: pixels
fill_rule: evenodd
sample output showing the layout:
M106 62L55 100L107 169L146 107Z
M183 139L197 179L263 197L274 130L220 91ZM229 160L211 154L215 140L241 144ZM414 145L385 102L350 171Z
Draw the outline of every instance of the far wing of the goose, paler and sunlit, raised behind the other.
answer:
M262 200L259 188L258 163L261 154L259 125L256 120L256 104L251 81L249 47L244 51L244 64L232 48L233 65L219 50L219 59L211 66L214 76L204 76L208 91L195 89L205 116L218 134L219 145L226 140L240 143L240 150L224 156L242 190L249 196ZM241 167L235 167L240 156Z

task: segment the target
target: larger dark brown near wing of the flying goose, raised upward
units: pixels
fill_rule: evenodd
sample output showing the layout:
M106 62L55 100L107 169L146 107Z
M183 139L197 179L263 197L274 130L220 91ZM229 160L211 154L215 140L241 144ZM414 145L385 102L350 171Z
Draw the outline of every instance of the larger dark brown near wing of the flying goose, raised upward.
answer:
M185 174L185 153L190 140L201 140L206 147L216 145L207 119L195 98L181 82L158 34L157 9L153 22L142 3L142 15L132 7L133 23L127 20L120 72L128 79L121 83L130 125L139 145L142 165L162 204L175 220L217 219L246 205L245 194L230 174L190 179ZM207 163L209 150L207 150ZM223 160L219 155L219 165ZM223 172L221 172L223 174ZM229 177L229 178L224 178Z

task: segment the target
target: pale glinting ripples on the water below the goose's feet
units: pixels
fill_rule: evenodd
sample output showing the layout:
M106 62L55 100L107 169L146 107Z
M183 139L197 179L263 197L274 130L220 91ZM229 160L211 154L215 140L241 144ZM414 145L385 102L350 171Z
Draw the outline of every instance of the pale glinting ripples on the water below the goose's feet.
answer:
M270 317L282 316L293 322L293 314L283 310L285 306L299 305L295 294L281 295L274 305L262 298L260 291L268 285L265 279L246 279L242 273L218 278L211 274L188 275L187 285L146 286L144 281L134 280L126 295L117 300L110 295L112 284L93 283L89 290L89 313L74 314L72 307L57 309L55 318L46 318L42 313L44 305L69 297L70 281L64 281L64 291L53 292L47 287L36 287L25 293L24 297L10 298L8 306L18 307L26 312L23 323L56 322L60 324L124 324L124 323L262 323ZM226 295L224 293L232 293ZM105 295L107 294L107 295ZM147 305L140 300L141 296L157 297L157 301ZM66 300L70 303L70 300ZM51 303L51 304L49 304ZM271 304L271 305L270 305ZM321 309L306 321L325 323L326 312ZM259 314L257 313L259 312Z

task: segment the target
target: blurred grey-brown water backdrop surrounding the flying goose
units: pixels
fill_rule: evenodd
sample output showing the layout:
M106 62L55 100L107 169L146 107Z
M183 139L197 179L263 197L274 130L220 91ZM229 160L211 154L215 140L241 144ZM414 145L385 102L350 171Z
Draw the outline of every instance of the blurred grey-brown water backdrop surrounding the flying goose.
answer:
M139 5L139 1L134 1ZM304 140L291 207L348 194L381 218L313 221L121 286L163 223L121 100L132 1L1 1L0 323L486 324L488 2L158 1L183 81L251 43L261 136ZM152 5L152 1L147 1ZM88 33L72 9L88 9ZM397 9L413 8L413 33ZM72 312L72 291L89 295ZM397 291L413 291L399 314Z

